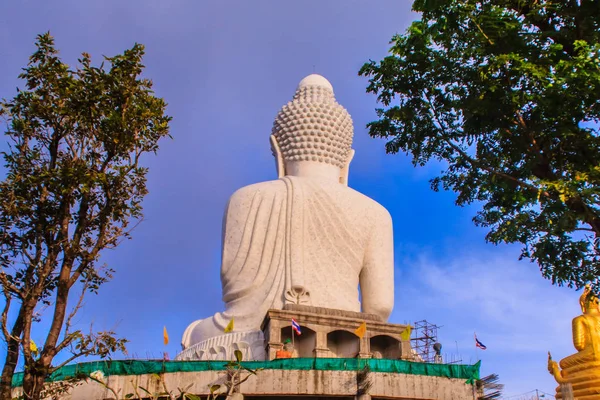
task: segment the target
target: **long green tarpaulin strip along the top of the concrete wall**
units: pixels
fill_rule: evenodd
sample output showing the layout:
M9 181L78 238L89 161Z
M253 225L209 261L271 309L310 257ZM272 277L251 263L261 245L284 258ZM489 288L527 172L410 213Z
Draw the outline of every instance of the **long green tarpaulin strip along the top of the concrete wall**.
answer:
M360 365L359 365L360 363ZM67 365L50 376L50 381L60 381L76 376L89 376L94 371L109 375L143 375L168 372L223 371L226 361L155 361L155 360L112 360L94 361ZM480 362L475 365L427 364L402 360L357 359L357 358L288 358L273 361L245 361L251 369L287 369L319 371L356 371L368 364L372 372L395 372L410 375L441 376L466 379L473 383L479 379ZM23 373L15 374L13 386L21 386Z

